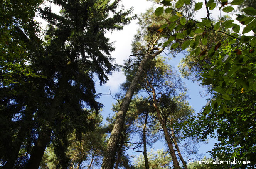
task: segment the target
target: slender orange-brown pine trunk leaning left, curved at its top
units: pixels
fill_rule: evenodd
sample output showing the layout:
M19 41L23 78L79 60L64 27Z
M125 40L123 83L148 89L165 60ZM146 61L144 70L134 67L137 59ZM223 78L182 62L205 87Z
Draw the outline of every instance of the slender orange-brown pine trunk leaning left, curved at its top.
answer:
M157 106L157 102L156 102L156 93L155 93L155 89L154 87L148 82L148 80L146 79L146 82L147 82L147 85L152 89L152 93L153 93L153 106L157 112L157 118L158 118L158 121L160 122L162 128L163 128L163 133L165 135L165 140L167 142L167 145L168 145L168 148L169 148L169 151L170 151L170 155L172 157L172 161L173 161L173 166L175 169L180 169L180 166L179 166L179 162L177 160L177 157L176 157L176 154L175 154L175 151L174 151L174 148L173 148L173 145L172 145L172 139L170 138L170 135L168 133L168 129L167 127L165 126L165 123L164 123L164 120L162 119L161 117L161 114L160 114L160 110Z

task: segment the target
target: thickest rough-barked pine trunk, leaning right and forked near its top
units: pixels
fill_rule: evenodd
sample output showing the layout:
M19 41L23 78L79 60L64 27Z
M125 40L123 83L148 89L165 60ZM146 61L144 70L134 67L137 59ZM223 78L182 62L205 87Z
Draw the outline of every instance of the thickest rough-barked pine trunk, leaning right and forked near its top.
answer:
M159 39L160 36L157 36L156 40L154 41L153 44L157 43L157 40ZM150 55L150 52L153 50L158 50L155 54ZM144 56L143 60L141 61L138 70L136 74L133 77L133 80L131 81L131 84L126 91L125 98L123 99L123 102L120 106L120 109L118 111L118 114L116 116L116 121L114 123L111 136L108 141L107 145L107 150L105 152L104 158L103 158L103 163L101 166L101 169L113 169L114 163L115 163L115 156L116 156L116 151L118 148L118 143L119 139L121 136L121 132L123 130L123 124L125 122L125 116L128 110L128 107L131 103L131 98L133 96L133 93L135 92L135 88L137 86L138 80L140 79L140 76L143 72L143 69L149 59L155 58L155 56L159 55L162 53L164 48L155 48L154 46L148 51L148 53Z

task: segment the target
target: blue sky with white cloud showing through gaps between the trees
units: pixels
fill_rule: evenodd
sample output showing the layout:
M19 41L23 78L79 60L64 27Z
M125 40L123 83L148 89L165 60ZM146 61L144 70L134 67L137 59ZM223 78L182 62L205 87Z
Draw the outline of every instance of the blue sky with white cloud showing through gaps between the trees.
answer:
M146 0L130 0L126 1L124 0L123 5L125 8L130 8L131 6L134 7L134 13L137 15L140 15L140 13L143 13L146 11L147 8L150 8L152 6L152 2L148 2ZM123 60L128 59L129 55L131 54L131 41L133 40L133 36L136 34L138 25L136 25L137 20L134 20L131 22L130 25L126 25L122 31L113 31L113 33L108 33L107 36L110 38L110 41L114 41L114 46L116 47L116 50L111 53L112 57L116 58L116 63L119 65L123 64ZM182 54L178 54L175 58L172 56L168 56L171 58L168 63L173 66L173 68L177 68L180 59L184 57ZM125 76L122 72L114 72L112 76L109 76L108 83L104 84L103 86L98 85L98 81L96 80L96 91L97 93L102 93L103 95L98 100L99 102L104 104L104 108L101 112L101 114L104 117L103 124L106 122L106 117L109 116L109 114L113 114L111 111L112 104L116 102L115 99L113 99L109 95L109 90L111 90L111 94L115 96L115 93L119 91L119 85L125 81ZM207 103L206 99L207 97L202 98L200 96L200 92L204 92L204 88L200 86L198 83L193 83L191 80L187 80L183 78L183 81L188 89L189 94L189 104L195 109L195 113L198 113L203 106ZM200 149L198 151L199 154L206 154L207 151L211 150L214 146L214 143L216 140L210 139L209 144L202 144L200 146ZM157 142L154 144L155 149L162 149L165 148L165 142ZM150 151L150 147L148 147L148 152ZM132 151L128 151L128 154L130 155L138 155L140 153L133 153ZM207 157L210 157L209 154L206 154ZM189 158L195 158L195 156L191 156L185 159Z

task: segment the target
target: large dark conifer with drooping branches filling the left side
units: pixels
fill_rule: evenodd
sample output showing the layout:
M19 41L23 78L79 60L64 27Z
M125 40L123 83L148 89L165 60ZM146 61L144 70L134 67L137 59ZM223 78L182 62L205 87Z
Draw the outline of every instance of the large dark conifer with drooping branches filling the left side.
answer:
M8 6L7 2L11 5ZM19 15L22 15L24 20L29 15L33 20L35 9L41 3L35 1L33 5L30 4L32 2L19 1L24 8L32 5L32 14L26 16L27 13L22 13L26 10L20 10L18 2L7 2L4 2L5 5L1 10L8 11L10 8L13 12L13 15L9 12L10 18L19 18ZM100 84L103 84L108 80L107 75L116 68L110 57L114 47L104 34L106 31L121 30L123 25L128 24L132 19L128 17L131 9L117 10L119 2L119 0L113 3L109 0L53 0L52 5L59 5L62 8L60 15L53 13L50 7L40 9L40 15L48 22L49 27L44 36L45 43L30 31L34 28L33 24L24 24L27 29L19 28L22 24L14 24L15 31L20 33L16 36L17 39L30 42L25 47L27 51L31 49L28 55L34 56L29 58L29 64L33 68L32 73L39 73L40 76L30 73L29 79L20 80L22 83L18 81L16 84L16 81L10 81L9 86L17 86L17 91L23 91L20 93L22 97L18 97L17 94L11 96L8 91L4 91L6 86L1 88L5 92L1 111L12 109L7 111L10 112L9 114L3 113L6 121L4 129L15 131L10 135L5 134L8 137L4 137L3 141L8 142L9 147L12 147L17 144L12 141L12 137L25 137L15 138L19 141L20 146L15 146L15 150L17 153L22 153L21 161L17 155L3 154L1 160L5 167L10 168L7 164L9 165L12 160L11 163L15 167L38 168L49 143L53 145L59 159L56 166L67 167L69 161L65 153L69 144L67 136L74 131L76 136L79 136L93 126L86 120L89 111L84 108L98 112L102 107L101 103L95 101L99 95L95 92L94 75L99 78ZM110 16L110 13L113 15ZM1 11L1 15L3 14L4 12ZM21 21L24 22L22 19ZM3 22L9 21L7 19ZM15 116L18 117L13 119ZM22 126L24 128L21 128ZM2 141L1 146L8 147Z

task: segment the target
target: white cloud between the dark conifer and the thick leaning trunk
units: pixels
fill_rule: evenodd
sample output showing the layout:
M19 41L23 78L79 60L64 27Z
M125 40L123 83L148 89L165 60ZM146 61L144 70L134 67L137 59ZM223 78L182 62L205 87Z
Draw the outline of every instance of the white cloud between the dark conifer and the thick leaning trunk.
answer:
M137 14L139 16L150 8L153 3L146 0L124 0L121 4L124 5L125 9L133 7L133 15ZM125 25L123 30L113 31L113 33L108 32L106 34L111 42L115 42L115 51L111 53L111 56L116 58L116 63L119 65L123 65L123 60L127 60L131 55L131 42L139 28L137 22L138 20L133 20L129 25ZM112 94L118 92L120 84L125 82L125 80L122 72L114 72L113 75L109 76L108 83L102 86L105 90L103 92L101 91L101 93L109 93L109 89Z

